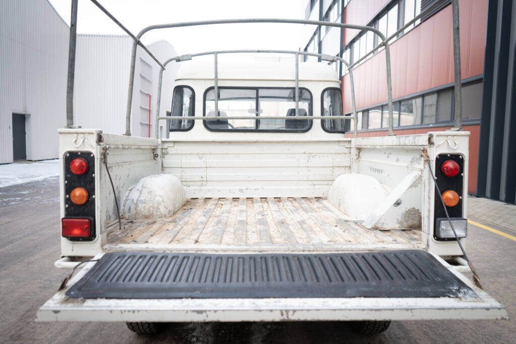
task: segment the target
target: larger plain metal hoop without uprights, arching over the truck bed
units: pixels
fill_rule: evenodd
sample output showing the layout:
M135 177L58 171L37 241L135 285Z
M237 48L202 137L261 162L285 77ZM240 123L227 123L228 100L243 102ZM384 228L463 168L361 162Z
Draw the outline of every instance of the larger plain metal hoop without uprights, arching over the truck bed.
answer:
M343 23L335 23L335 22L324 22L324 21L316 21L316 20L295 20L295 19L229 19L229 20L209 20L209 21L199 21L199 22L189 22L189 23L170 23L170 24L159 24L159 25L151 25L147 26L146 28L143 28L140 32L138 32L138 35L136 36L139 42L139 39L148 31L154 30L154 29L162 29L162 28L173 28L173 27L185 27L185 26L199 26L199 25L213 25L213 24L236 24L236 23L285 23L285 24L308 24L308 25L317 25L317 26L332 26L332 27L341 27L341 28L350 28L350 29L357 29L357 30L367 30L367 31L373 31L376 35L380 37L382 41L385 41L385 36L379 31L378 29L375 29L374 27L370 26L364 26L364 25L354 25L354 24L343 24ZM388 43L386 45L386 50L388 50ZM307 54L308 55L308 54ZM390 83L390 69L391 69L391 63L390 63L390 53L388 53L389 57L386 57L386 68L388 71L388 83ZM192 55L193 56L193 55ZM314 56L319 56L322 58L322 54L317 54ZM130 69L130 75L129 75L129 92L127 96L127 109L126 109L126 121L125 121L125 127L126 127L126 135L131 135L131 102L132 102L132 96L133 96L133 83L134 83L134 65L136 63L136 42L133 45L133 52L131 56L131 69ZM390 112L392 117L392 88L391 91L389 91L390 87L388 87L388 95L390 94Z

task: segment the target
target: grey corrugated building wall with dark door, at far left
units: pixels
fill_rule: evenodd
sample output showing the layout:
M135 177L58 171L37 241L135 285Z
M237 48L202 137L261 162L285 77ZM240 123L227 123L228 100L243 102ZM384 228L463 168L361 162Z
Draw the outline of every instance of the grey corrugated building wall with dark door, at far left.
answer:
M27 159L57 157L66 119L69 28L46 0L0 2L0 163L12 162L12 113L27 113ZM65 66L63 68L63 66Z

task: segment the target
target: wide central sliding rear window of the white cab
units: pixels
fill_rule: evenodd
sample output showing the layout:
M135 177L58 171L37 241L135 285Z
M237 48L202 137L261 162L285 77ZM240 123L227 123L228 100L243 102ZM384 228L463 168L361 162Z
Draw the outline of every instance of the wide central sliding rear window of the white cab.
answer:
M296 115L295 88L218 88L218 116L215 116L215 91L204 92L204 126L214 132L289 132L304 133L312 120L274 119ZM312 116L312 94L299 88L299 116ZM256 119L238 117L253 116ZM273 117L272 119L261 119Z

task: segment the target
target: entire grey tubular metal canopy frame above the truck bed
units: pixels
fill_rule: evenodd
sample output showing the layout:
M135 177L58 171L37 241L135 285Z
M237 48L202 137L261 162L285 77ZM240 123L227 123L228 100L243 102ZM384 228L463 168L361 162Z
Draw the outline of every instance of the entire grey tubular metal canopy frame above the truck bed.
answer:
M351 116L310 116L311 119L352 119L353 120L353 132L354 137L357 137L358 133L358 119L357 119L357 108L355 102L355 94L354 94L354 80L353 80L353 69L357 65L359 65L363 60L365 60L368 56L372 55L374 52L378 51L382 46L385 47L385 65L386 65L386 73L387 73L387 97L388 97L388 109L389 109L389 130L388 135L393 136L393 100L392 100L392 78L391 78L391 51L389 41L401 34L405 29L414 24L417 20L420 20L426 14L432 12L435 8L443 4L446 0L440 0L433 3L426 10L422 11L420 14L416 15L412 20L410 20L407 24L402 26L396 32L394 32L391 36L385 37L382 32L374 27L363 26L363 25L354 25L354 24L344 24L344 23L334 23L334 22L325 22L325 21L315 21L315 20L295 20L295 19L231 19L231 20L209 20L209 21L198 21L198 22L185 22L185 23L170 23L170 24L158 24L158 25L150 25L146 28L143 28L137 36L134 36L127 28L125 28L111 13L109 13L101 4L99 4L96 0L91 0L93 4L99 7L106 15L113 20L118 26L120 26L131 38L133 38L133 49L131 54L131 69L129 75L129 88L127 93L127 107L125 114L125 135L131 136L131 108L132 108L132 100L133 100L133 85L134 85L134 72L135 72L135 63L136 63L136 49L137 46L140 45L145 52L149 54L160 66L159 71L159 80L158 80L158 95L156 102L156 125L155 125L155 137L158 138L159 130L158 130L158 121L159 120L206 120L204 116L167 116L160 117L159 109L161 102L161 91L162 91L162 83L163 83L163 71L166 69L168 63L172 61L181 62L191 60L192 57L198 56L206 56L213 55L214 57L214 93L215 93L215 113L218 113L218 54L235 54L235 53L278 53L278 54L293 54L296 57L295 61L295 100L296 100L296 114L295 116L286 117L286 116L263 116L261 119L288 119L288 120L307 120L305 116L299 116L299 55L304 56L315 56L320 58L321 60L336 62L340 61L344 63L349 71L349 81L350 81L350 91L351 91L351 105L352 105L352 115ZM455 69L455 130L461 129L461 71L460 71L460 43L459 43L459 10L458 10L458 0L452 0L453 6L453 45L454 45L454 69ZM68 71L68 86L67 86L67 124L68 126L73 125L73 108L72 108L72 99L73 99L73 79L74 79L74 67L75 67L75 39L76 39L76 20L77 20L77 0L72 0L72 15L71 15L71 31L70 31L70 48L69 48L69 71ZM165 29L165 28L173 28L173 27L186 27L186 26L200 26L200 25L215 25L215 24L243 24L243 23L284 23L284 24L308 24L308 25L317 25L317 26L332 26L338 27L341 29L357 29L357 30L367 30L372 31L380 38L380 42L377 46L375 46L372 50L370 50L366 55L362 56L358 61L350 64L345 59L338 56L330 56L326 54L316 54L316 53L308 53L301 51L287 51L287 50L220 50L220 51L211 51L197 54L187 54L172 57L166 60L163 64L148 50L148 48L143 45L140 41L141 37L146 34L146 32L155 30L155 29ZM73 28L73 29L72 29ZM342 80L341 83L341 92L342 92ZM232 119L256 119L255 116L236 116L231 117Z

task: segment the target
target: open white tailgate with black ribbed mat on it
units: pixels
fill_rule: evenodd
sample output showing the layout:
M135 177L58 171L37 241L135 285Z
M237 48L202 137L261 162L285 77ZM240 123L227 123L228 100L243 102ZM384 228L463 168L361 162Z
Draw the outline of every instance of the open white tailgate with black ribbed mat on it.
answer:
M96 258L39 309L37 321L507 318L504 306L424 250Z

